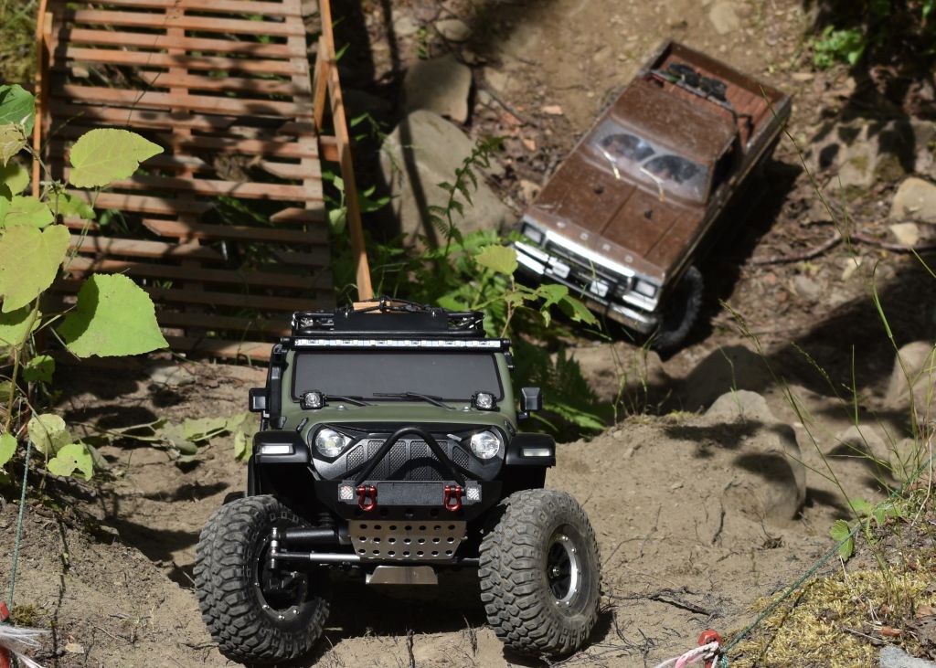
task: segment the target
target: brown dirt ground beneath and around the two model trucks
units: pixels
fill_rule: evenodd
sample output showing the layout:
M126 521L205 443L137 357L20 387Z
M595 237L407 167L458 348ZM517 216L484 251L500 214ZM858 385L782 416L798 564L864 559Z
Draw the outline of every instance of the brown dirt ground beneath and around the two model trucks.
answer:
M738 25L727 34L711 22L712 6L708 0L364 2L359 14L349 12L340 30L369 48L348 51L343 76L348 87L386 95L395 91L402 69L419 50L439 55L457 49L473 60L474 114L467 129L475 136L508 138L499 157L504 176L494 185L518 209L524 203L522 182L545 181L608 93L666 36L795 94L791 135L806 146L824 120L847 106L854 81L842 68L813 73L808 67L803 36L812 19L803 4L733 4ZM399 26L402 17L431 27L453 15L473 30L464 44L446 44L431 30L429 36L398 37L388 28ZM543 111L554 105L561 115ZM850 205L861 225L870 230L884 225L886 207L880 203L895 185L882 182ZM845 514L838 488L812 472L806 506L795 520L771 523L723 514L713 481L721 480L731 459L710 455L727 453L747 432L695 411L733 387L757 391L777 418L795 429L807 467L818 469L818 452L831 449L835 434L850 424L847 401L836 399L836 392L847 398L854 382L866 408L879 407L893 365L892 345L869 298L867 279L875 265L898 343L933 334L933 292L920 288L931 279L906 255L858 246L860 267L848 271L854 260L840 244L808 261L758 264L756 258L796 254L831 234L789 142L768 165L756 195L746 205L749 228L716 248L704 268L711 286L709 325L699 327L678 355L652 364L651 408L689 414L631 418L591 441L563 444L559 465L550 472L549 486L584 503L603 560L599 624L590 646L566 661L569 665L654 665L694 646L706 628L738 629L753 617L755 599L795 579L827 549L829 525ZM797 277L818 285L822 297L797 289L802 284ZM710 360L725 351L731 356L738 346L751 347L721 300L760 338L768 364L793 385L812 420L804 424L802 414L793 412L763 366L748 362L728 372L711 370ZM612 366L607 346L579 344L592 351L582 355L591 360L582 362L586 374L607 376ZM623 348L633 354L626 344ZM156 417L227 415L241 412L247 389L263 384L262 370L202 363L186 368L207 384L166 386L149 380L153 364L169 363L63 370L60 409L69 423L104 428ZM899 421L885 418L890 427ZM60 521L38 504L26 514L15 612L20 623L52 630L37 659L57 668L232 665L213 648L191 580L198 531L224 496L244 484L245 470L233 458L231 441L213 440L189 464L144 445L107 447L102 453L110 466L107 479L66 490L66 498L92 517L65 508ZM850 494L880 495L880 485L860 462L844 458L839 467ZM3 582L15 513L15 504L0 513ZM505 654L485 627L468 572L449 574L443 587L424 592L377 591L344 582L325 639L300 665L359 664L536 665Z

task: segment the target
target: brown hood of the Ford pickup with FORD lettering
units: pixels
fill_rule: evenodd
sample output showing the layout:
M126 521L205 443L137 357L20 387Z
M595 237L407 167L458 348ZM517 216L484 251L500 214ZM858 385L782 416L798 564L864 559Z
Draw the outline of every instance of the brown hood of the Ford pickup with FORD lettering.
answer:
M705 210L668 195L661 201L657 191L625 174L616 177L579 152L563 170L569 173L553 176L526 216L662 283Z

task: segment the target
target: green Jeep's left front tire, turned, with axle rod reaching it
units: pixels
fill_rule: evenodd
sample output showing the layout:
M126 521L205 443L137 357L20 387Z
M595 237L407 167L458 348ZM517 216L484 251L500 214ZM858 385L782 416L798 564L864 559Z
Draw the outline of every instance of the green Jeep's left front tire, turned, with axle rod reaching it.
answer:
M307 654L321 635L329 616L324 577L307 574L289 604L268 602L257 584L271 529L301 526L283 503L256 496L221 506L201 531L194 568L198 607L228 659L292 661Z

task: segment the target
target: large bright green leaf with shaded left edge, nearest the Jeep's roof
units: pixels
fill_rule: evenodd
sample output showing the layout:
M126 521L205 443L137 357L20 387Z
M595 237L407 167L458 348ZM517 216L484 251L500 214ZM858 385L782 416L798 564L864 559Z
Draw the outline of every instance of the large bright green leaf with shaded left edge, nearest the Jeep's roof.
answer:
M168 347L152 299L120 274L87 279L58 333L79 357L140 355Z

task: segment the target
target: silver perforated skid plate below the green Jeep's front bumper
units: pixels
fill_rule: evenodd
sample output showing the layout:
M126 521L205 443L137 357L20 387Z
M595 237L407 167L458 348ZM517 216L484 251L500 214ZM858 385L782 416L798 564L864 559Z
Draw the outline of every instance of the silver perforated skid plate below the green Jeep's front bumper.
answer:
M464 521L390 521L348 524L351 545L362 560L446 561L465 537Z

